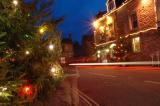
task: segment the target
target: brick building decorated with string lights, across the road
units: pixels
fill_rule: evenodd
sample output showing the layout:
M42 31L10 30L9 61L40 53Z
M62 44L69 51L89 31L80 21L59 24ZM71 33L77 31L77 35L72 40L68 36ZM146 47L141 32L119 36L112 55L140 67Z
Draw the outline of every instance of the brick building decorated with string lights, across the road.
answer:
M150 61L160 54L160 0L108 0L107 13L96 19L97 57L114 58L117 39L125 38L126 61Z

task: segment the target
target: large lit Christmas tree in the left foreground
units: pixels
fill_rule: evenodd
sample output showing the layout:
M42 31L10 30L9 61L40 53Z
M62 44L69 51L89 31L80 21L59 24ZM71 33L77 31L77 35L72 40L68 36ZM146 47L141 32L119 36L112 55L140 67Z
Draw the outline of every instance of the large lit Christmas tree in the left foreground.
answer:
M56 29L60 20L45 20L36 26L35 20L47 16L43 11L51 4L43 4L33 15L38 2L0 1L0 105L43 101L63 78Z

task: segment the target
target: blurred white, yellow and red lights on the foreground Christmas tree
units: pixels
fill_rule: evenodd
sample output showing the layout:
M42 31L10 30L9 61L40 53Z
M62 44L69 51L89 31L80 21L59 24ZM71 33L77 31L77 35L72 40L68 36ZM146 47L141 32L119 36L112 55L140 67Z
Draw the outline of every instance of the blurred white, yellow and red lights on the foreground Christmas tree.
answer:
M13 0L12 1L12 4L15 6L15 7L18 7L19 5L19 1L18 0ZM40 34L44 34L48 28L47 26L40 26L39 27L39 33ZM55 49L55 45L53 43L50 43L48 46L47 46L48 50L49 51L54 51ZM13 53L13 50L12 49L8 49L6 51L4 51L5 53ZM20 51L20 52L24 52L24 55L26 56L29 56L31 55L32 51L30 49L25 49L24 51ZM3 61L6 61L4 59L0 59L0 62L3 62ZM50 68L50 73L53 77L59 77L59 71L60 71L60 68L58 67L58 64L54 64L54 65L51 65L51 68ZM7 97L7 96L11 96L8 94L8 89L7 86L0 86L0 97ZM26 86L23 86L23 88L21 89L21 92L24 94L24 95L29 95L31 96L32 93L33 93L33 85L26 85Z

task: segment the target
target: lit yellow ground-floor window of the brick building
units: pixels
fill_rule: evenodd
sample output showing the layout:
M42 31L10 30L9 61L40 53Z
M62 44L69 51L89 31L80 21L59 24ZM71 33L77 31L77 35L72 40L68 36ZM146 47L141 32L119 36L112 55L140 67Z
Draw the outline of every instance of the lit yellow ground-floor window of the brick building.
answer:
M133 38L132 40L133 52L140 52L140 37Z

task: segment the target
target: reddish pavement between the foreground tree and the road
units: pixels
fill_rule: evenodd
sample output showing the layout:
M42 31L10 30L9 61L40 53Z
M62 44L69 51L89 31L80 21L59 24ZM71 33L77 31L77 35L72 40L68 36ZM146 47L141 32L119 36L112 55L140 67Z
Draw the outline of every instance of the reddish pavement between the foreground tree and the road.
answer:
M36 101L33 106L79 106L79 93L77 91L77 74L75 67L63 67L65 79L49 94L45 102ZM85 106L85 105L84 105Z

